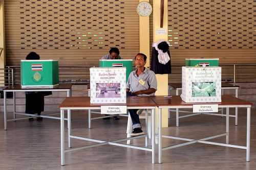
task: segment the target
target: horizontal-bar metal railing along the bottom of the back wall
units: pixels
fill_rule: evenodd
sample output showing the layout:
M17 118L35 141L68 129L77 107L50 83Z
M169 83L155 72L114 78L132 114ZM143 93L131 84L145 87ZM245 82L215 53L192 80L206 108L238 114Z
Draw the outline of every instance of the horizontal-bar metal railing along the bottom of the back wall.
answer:
M181 64L172 65L172 74L169 74L170 80L180 81ZM223 81L227 82L256 82L256 64L220 64L223 71ZM98 65L65 65L59 66L59 80L61 83L89 83L90 67L98 67ZM133 66L134 67L134 66ZM12 82L20 83L20 66L6 66L7 69L13 69ZM255 68L255 69L254 69ZM249 72L248 70L252 70ZM255 70L255 74L254 74Z

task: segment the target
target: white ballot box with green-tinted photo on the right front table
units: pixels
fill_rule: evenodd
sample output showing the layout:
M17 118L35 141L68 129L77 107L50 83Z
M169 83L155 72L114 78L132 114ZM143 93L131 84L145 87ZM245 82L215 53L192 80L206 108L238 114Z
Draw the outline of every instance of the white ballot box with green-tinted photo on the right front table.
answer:
M186 103L221 102L221 67L182 67L181 99Z

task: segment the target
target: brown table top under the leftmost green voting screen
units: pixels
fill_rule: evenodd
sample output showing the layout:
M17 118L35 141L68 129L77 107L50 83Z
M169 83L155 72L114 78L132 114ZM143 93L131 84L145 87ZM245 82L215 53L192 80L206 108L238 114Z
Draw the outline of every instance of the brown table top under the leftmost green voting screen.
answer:
M20 90L20 91L36 91L36 90L66 90L66 89L71 89L72 84L59 84L56 87L53 88L22 88L20 84L14 84L14 85L9 85L7 86L4 90L6 91L12 91L12 90Z

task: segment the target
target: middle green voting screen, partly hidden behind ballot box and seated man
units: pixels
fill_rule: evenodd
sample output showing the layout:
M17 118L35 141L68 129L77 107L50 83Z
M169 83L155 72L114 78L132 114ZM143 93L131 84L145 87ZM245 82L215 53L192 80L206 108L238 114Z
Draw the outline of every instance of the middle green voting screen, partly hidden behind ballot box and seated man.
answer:
M133 71L133 60L99 60L100 67L126 67L126 82Z

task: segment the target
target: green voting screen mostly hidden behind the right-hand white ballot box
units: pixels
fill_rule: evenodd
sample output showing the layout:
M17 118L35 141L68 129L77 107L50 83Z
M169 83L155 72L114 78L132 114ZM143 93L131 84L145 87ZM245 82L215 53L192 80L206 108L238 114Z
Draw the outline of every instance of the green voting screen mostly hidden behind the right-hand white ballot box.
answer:
M219 66L219 59L199 59L199 58L189 58L185 60L185 66Z

